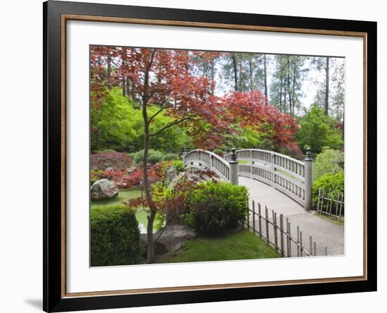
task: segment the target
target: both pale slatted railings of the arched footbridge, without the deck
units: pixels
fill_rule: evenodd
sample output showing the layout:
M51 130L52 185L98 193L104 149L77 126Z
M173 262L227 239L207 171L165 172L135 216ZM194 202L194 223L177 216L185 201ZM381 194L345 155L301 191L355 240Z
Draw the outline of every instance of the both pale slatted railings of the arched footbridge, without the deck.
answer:
M312 159L309 150L303 162L263 149L233 149L224 159L212 152L196 149L184 156L184 166L194 162L203 163L224 180L232 180L231 183L238 184L238 176L260 180L291 197L307 211L312 208Z

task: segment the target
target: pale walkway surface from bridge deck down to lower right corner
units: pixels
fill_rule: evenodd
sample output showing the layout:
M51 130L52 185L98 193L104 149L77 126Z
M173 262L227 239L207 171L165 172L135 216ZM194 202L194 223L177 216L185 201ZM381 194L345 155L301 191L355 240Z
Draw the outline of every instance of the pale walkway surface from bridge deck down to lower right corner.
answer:
M331 221L315 216L303 209L297 202L291 200L282 192L274 188L260 183L258 180L251 178L244 178L239 176L239 185L244 185L250 192L250 206L251 200L254 200L258 207L258 202L262 206L262 214L264 214L265 205L269 209L269 219L272 220L272 210L277 212L277 219L279 223L279 215L284 214L284 219L288 218L291 223L292 233L296 235L296 227L300 226L300 231L303 231L303 238L305 238L305 247L309 251L309 236L312 235L313 241L317 244L317 255L325 254L325 247L327 247L329 255L344 254L344 226L336 225ZM255 223L256 225L258 223ZM265 233L265 223L262 223L262 231ZM274 231L269 227L269 236L274 238ZM286 245L285 245L286 250ZM291 254L296 257L296 249L292 247Z

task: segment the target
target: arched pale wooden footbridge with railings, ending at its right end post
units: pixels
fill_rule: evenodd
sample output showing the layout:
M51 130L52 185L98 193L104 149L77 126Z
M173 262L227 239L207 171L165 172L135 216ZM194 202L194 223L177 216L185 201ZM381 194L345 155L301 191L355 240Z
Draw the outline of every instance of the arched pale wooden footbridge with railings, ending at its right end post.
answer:
M260 202L281 201L281 207L311 209L312 159L309 151L304 161L263 149L233 149L224 158L195 149L184 152L183 159L184 168L208 168L224 181L246 185L250 196L259 195Z

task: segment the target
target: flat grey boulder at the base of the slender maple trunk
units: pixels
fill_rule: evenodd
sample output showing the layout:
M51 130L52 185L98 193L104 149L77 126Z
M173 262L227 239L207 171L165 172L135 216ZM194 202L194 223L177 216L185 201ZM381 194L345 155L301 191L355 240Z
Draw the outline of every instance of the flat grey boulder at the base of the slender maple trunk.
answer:
M157 233L153 233L153 240L157 240L155 243L155 253L164 254L179 250L185 240L195 237L195 231L188 226L167 225ZM141 234L141 244L144 248L144 252L146 252L148 247L146 234Z

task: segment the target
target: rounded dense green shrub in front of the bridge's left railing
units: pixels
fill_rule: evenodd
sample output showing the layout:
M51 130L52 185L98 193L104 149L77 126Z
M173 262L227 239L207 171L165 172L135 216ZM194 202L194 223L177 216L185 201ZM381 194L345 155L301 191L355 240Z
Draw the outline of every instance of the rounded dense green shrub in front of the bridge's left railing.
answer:
M220 233L241 226L248 214L248 190L244 186L200 183L187 199L189 213L183 219L199 233Z

